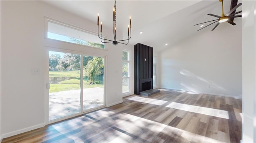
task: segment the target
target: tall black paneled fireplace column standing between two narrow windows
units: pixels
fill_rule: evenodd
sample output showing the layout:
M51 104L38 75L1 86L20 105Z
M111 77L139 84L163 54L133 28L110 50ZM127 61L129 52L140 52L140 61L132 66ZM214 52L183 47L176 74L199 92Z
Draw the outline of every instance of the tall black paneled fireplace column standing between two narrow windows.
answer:
M153 47L137 43L134 45L134 94L139 95L145 89L142 88L145 82L150 82L144 85L153 89Z

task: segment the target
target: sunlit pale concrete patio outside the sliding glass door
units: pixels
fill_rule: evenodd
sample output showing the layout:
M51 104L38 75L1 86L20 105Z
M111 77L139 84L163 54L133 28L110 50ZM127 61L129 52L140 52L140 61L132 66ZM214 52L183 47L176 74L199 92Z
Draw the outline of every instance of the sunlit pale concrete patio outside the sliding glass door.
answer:
M104 88L84 88L83 111L104 104ZM49 121L80 112L80 90L49 93Z

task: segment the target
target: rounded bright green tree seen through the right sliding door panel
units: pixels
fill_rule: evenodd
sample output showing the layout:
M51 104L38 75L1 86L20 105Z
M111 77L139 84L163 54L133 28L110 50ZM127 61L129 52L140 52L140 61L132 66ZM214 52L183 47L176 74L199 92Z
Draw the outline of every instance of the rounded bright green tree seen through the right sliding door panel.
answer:
M92 60L88 61L84 71L91 84L94 84L97 77L103 74L103 68L104 61L101 57L93 57Z

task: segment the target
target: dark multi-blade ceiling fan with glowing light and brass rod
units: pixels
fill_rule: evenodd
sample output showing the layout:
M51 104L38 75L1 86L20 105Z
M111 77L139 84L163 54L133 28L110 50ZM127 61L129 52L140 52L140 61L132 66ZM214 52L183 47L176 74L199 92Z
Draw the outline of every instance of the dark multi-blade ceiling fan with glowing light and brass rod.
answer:
M238 4L238 5L236 5L234 8L232 8L232 9L231 9L229 12L227 12L226 15L225 15L224 12L223 12L223 0L219 0L219 1L220 1L221 4L222 4L222 14L221 14L221 16L217 16L217 15L215 15L215 14L208 14L209 16L214 16L214 17L218 18L217 20L208 21L208 22L213 22L213 21L215 21L215 22L213 22L213 23L211 23L211 24L209 24L209 25L212 25L212 24L218 22L218 23L214 26L214 28L212 29L212 31L213 31L220 23L222 23L222 22L228 22L228 23L230 23L230 24L232 24L232 25L236 25L234 22L232 22L232 21L230 20L230 18L242 17L242 15L235 16L236 14L241 13L242 10L239 11L239 12L235 12L235 13L231 14L231 13L234 12L239 6L242 5L241 3ZM207 23L207 22L203 22L203 23L200 23L200 24L204 24L204 23ZM196 25L199 25L199 24L196 24ZM207 26L209 26L209 25L206 25L205 27L207 27ZM195 26L195 25L194 25L194 26ZM205 28L205 27L203 27L203 28ZM201 28L201 29L203 29L203 28ZM199 29L199 30L201 30L201 29ZM197 31L199 31L199 30L197 30Z

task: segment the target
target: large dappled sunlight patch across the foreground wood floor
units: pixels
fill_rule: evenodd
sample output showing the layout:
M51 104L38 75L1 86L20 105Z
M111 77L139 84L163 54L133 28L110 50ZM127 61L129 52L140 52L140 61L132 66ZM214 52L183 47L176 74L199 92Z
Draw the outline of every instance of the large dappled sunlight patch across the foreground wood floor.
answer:
M102 111L99 110L98 113L100 114L108 114L109 111ZM145 118L140 118L138 116L134 116L127 113L115 113L110 112L109 115L116 114L113 118L113 116L108 116L105 119L107 124L102 126L102 122L98 120L98 115L91 114L91 119L85 116L71 119L67 121L66 123L57 123L56 125L52 125L56 131L65 134L70 132L71 129L77 129L77 127L80 127L79 124L85 123L82 128L82 132L66 135L67 138L62 139L62 142L70 142L70 139L74 142L81 142L80 139L81 134L85 134L84 131L86 129L96 129L101 133L102 131L98 130L101 127L109 128L112 130L112 132L108 133L108 135L113 136L112 138L106 138L106 142L111 143L120 143L120 142L154 142L157 141L158 135L164 135L164 136L170 136L173 139L180 138L179 141L181 142L198 142L198 143L222 143L221 139L212 139L210 137L205 137L202 135L198 135L196 133L191 133L189 131L179 129L176 127L172 127L169 125L166 125L164 123L159 123L157 121L152 121ZM106 127L107 126L107 127ZM83 131L84 130L84 131ZM146 133L144 133L146 131ZM160 133L160 134L159 134ZM151 136L148 136L150 134ZM103 136L105 134L102 134ZM92 137L90 135L85 135L86 137ZM136 138L136 139L135 139ZM93 139L90 138L90 139ZM155 140L156 139L156 140Z

